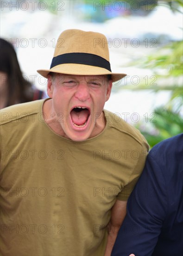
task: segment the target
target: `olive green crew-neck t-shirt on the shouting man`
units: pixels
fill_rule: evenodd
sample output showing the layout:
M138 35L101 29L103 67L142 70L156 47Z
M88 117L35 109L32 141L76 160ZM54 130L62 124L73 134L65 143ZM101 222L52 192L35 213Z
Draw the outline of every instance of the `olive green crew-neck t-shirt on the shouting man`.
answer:
M0 255L103 256L111 208L130 195L147 142L108 111L101 134L71 141L44 122L43 102L1 111Z

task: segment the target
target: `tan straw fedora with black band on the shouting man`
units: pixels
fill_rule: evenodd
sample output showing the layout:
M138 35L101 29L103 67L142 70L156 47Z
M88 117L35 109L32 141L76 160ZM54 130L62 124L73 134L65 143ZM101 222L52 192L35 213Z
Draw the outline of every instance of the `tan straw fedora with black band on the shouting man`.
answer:
M60 34L50 69L39 69L44 77L50 72L74 75L106 75L118 81L126 74L112 73L105 35L68 29Z

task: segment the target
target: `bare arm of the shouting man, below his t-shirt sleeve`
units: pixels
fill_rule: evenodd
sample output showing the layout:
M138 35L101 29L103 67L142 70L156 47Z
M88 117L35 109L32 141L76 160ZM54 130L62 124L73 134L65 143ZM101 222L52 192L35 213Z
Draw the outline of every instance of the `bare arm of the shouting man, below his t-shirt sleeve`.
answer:
M111 220L108 224L108 237L105 256L110 256L114 246L118 231L121 223L126 216L126 201L116 200L113 208L111 209Z

